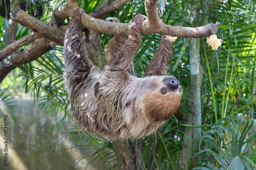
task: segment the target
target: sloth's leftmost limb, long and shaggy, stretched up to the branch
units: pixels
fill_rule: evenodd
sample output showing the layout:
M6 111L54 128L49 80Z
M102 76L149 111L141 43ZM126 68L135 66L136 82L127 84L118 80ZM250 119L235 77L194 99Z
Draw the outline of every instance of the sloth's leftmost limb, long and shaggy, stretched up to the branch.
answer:
M65 79L68 92L78 93L93 66L82 39L81 10L74 9L64 40Z

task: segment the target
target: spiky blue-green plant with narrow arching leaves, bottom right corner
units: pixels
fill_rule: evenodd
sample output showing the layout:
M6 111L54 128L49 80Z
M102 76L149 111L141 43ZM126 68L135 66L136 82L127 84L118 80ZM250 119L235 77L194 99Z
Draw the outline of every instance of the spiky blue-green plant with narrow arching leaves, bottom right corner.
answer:
M250 133L249 139L245 140L253 126L249 121L245 121L247 123L237 116L219 119L196 142L199 146L194 147L199 147L202 151L199 151L194 158L200 155L200 163L210 169L252 169L253 166L256 167L256 164L248 161L246 157L255 135ZM205 166L193 169L206 169Z

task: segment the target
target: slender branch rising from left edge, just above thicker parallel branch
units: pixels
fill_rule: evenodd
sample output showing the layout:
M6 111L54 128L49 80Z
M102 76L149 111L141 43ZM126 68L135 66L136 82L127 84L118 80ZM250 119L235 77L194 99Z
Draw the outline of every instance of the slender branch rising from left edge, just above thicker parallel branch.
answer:
M6 48L4 48L4 50L0 51L0 61L2 61L5 58L5 56L8 56L9 54L11 54L15 50L17 50L19 47L26 45L29 42L31 42L39 37L40 37L40 34L33 32L29 35L26 35L22 38L19 38L16 41L12 42Z

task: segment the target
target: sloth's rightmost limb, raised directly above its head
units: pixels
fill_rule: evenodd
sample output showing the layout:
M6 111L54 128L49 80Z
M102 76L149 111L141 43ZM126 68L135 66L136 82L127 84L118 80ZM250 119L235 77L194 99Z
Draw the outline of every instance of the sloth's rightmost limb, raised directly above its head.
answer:
M144 77L166 76L169 56L173 50L173 42L170 42L165 38L165 35L162 35L157 52L152 58L150 65L148 65Z

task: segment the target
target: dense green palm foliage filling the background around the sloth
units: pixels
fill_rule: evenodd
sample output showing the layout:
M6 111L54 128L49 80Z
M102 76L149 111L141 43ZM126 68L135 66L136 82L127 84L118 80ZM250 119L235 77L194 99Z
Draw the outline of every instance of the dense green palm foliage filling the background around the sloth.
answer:
M78 5L90 13L100 2L80 0ZM40 19L48 22L53 9L62 3L60 1L45 1L44 15ZM201 40L202 126L197 127L202 129L202 136L194 142L194 145L190 141L190 159L188 161L193 162L194 166L187 168L252 169L252 166L255 168L255 130L252 128L256 110L255 96L253 98L256 70L255 2L250 0L239 1L239 3L210 0L205 1L204 5L202 1L196 3L201 4L197 9L196 18L199 18L199 22L196 24L203 26L206 23L220 22L221 26L217 36L223 40L223 43L217 51L212 51L206 43L206 39ZM161 18L167 25L190 27L190 11L191 7L187 0L167 1L165 12ZM144 3L138 0L123 5L108 16L115 16L121 22L131 22L137 13L145 15ZM0 17L1 49L5 47L7 23L5 18ZM29 33L28 29L19 26L17 38ZM102 49L108 44L109 38L110 35L102 34ZM143 76L157 50L160 39L161 35L142 36L141 47L134 58L135 72L138 77ZM189 102L193 102L189 100L188 96L190 65L187 42L186 38L178 38L174 42L174 50L170 56L168 68L168 75L178 78L184 89L179 112L175 117L169 119L158 132L138 141L141 151L138 160L142 169L180 169L183 138L187 135L184 134L184 127L195 127L183 125L183 117L191 113ZM26 47L27 45L23 48ZM6 91L0 94L0 102L3 103L0 108L13 106L7 93L12 96L20 96L20 98L25 98L25 96L29 98L30 95L27 94L31 94L34 100L41 101L41 106L47 112L56 114L60 111L65 112L65 116L53 127L53 130L68 128L70 140L77 143L74 147L90 146L93 148L90 150L93 158L101 167L117 168L113 143L89 134L84 134L86 136L84 137L70 120L72 114L63 84L62 56L63 47L57 46L35 62L20 66L11 72L1 84L2 91L3 89ZM11 113L11 111L9 112ZM242 114L237 116L237 113ZM3 114L3 109L0 109L0 115ZM136 141L133 142L135 146ZM89 150L84 150L84 152L89 152Z

